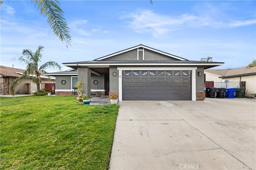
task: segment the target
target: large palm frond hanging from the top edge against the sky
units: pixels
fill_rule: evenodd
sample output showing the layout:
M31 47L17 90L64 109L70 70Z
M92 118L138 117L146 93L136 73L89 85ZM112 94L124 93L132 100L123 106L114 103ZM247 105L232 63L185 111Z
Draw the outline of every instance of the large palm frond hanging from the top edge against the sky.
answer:
M69 27L64 18L64 12L58 6L60 3L58 0L32 0L36 2L37 7L40 8L40 14L47 16L47 22L53 29L55 35L60 38L60 41L65 41L68 48L68 44L71 43L71 36L69 35Z

